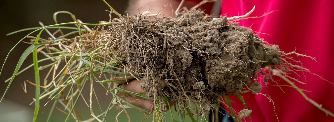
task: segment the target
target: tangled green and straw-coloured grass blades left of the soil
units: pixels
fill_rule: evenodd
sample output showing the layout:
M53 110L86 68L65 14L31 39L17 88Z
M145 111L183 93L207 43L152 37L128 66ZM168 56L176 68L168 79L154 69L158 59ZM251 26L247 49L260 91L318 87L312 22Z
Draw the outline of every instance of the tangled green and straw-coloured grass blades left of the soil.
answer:
M6 92L7 92L7 90L8 90L8 88L9 88L9 86L10 86L10 84L14 80L15 76L17 76L18 74L24 72L28 68L34 66L35 80L36 80L36 82L32 83L32 82L26 80L27 82L29 82L29 83L31 83L31 84L33 84L33 85L36 86L36 91L35 91L35 95L36 96L35 96L35 99L33 101L33 102L35 102L35 112L34 112L34 120L33 121L36 121L36 119L37 119L38 110L39 110L39 104L40 104L39 100L43 99L44 97L46 97L48 95L49 95L49 98L51 98L49 100L49 102L54 99L54 103L52 105L52 108L50 109L50 112L49 112L49 115L48 115L48 118L47 118L47 121L50 120L50 118L52 116L52 113L53 113L53 110L54 110L57 102L59 102L60 96L63 95L62 91L63 91L63 89L66 88L67 85L71 84L71 87L70 87L69 93L66 95L65 99L71 100L69 102L73 102L73 103L68 103L68 104L71 104L72 107L67 106L66 104L62 103L65 108L67 107L66 110L68 110L67 117L64 120L65 122L68 121L70 117L72 117L73 119L77 120L76 116L78 116L77 113L75 113L75 112L73 113L73 111L75 110L75 105L76 105L76 103L77 103L77 101L79 100L79 97L80 97L80 95L77 95L76 99L73 99L73 97L76 95L76 94L73 94L73 93L71 94L71 91L73 91L74 82L77 82L76 84L77 84L78 89L80 89L79 91L82 91L83 88L84 88L84 86L85 86L85 84L86 84L86 82L88 80L90 80L92 82L93 78L96 79L97 82L100 82L100 84L104 88L106 88L106 89L108 89L108 87L105 85L105 82L108 83L108 82L120 81L120 80L112 80L112 79L105 79L105 80L101 80L100 81L100 80L97 80L97 77L95 77L95 75L93 73L97 73L98 71L103 71L103 73L114 73L114 74L120 74L120 75L124 75L125 74L126 76L134 76L134 77L136 77L136 75L133 75L132 73L124 73L124 72L120 72L120 71L116 71L115 70L117 68L116 66L121 64L120 61L117 61L117 60L119 60L119 59L117 59L117 55L115 56L115 58L116 58L115 60L116 61L109 61L108 64L104 65L103 68L101 66L98 66L98 65L94 64L93 62L103 63L100 60L102 58L105 58L105 57L99 57L99 56L96 57L96 54L98 54L97 52L103 50L103 48L105 48L105 46L101 46L101 47L99 47L99 48L97 48L97 49L95 49L95 50L93 50L91 52L85 53L85 54L81 54L81 53L78 54L78 50L80 49L80 47L83 46L83 45L85 45L82 42L80 43L80 46L78 46L77 48L72 49L72 50L68 49L66 46L63 46L63 44L62 44L62 43L64 43L64 40L76 40L76 38L79 38L79 40L82 40L82 36L83 35L86 36L86 34L92 33L90 31L88 31L87 29L81 29L81 25L104 26L104 25L112 25L112 24L119 24L119 23L102 22L102 23L99 23L99 24L87 24L87 23L69 22L69 23L57 24L56 15L58 13L67 13L67 14L70 14L71 17L73 18L73 20L75 20L75 16L72 15L71 13L66 12L66 11L60 11L60 12L56 12L54 14L54 20L55 20L55 23L56 23L55 25L43 26L43 24L40 22L40 24L41 24L42 27L27 28L27 29L22 29L22 30L18 30L18 31L15 31L15 32L7 34L7 35L12 35L12 34L15 34L15 33L22 32L22 31L34 30L33 32L31 32L30 34L28 34L27 36L25 36L24 38L22 38L18 42L18 43L20 43L23 39L25 39L27 37L35 39L34 44L31 45L28 49L26 49L25 52L20 57L20 60L19 60L17 66L15 68L13 76L10 77L10 78L8 78L6 80L6 82L9 81L9 84L7 86L7 89L6 89L5 93L4 93L4 95L5 95ZM70 24L78 25L78 28L62 26L62 25L70 25ZM59 36L59 37L56 38L47 29L58 29L59 32L61 33L61 36ZM63 34L63 32L61 31L61 29L72 29L72 30L76 30L76 31L72 31L72 32L67 33L67 34ZM37 31L40 31L37 37L30 36L31 34L37 32ZM42 34L43 31L47 31L47 33L50 35L50 37L51 37L52 40L41 39L40 35ZM86 33L82 34L82 31L85 31ZM73 35L73 34L77 34L77 33L79 33L79 37L75 37L74 39L66 39L66 37L68 37L70 35ZM117 42L117 41L119 41L119 39L116 39L113 42ZM47 58L38 60L37 52L40 51L39 48L43 48L43 47L45 48L45 47L47 47L47 45L50 45L52 43L53 44L54 43L59 43L63 47L63 50L59 50L59 49L57 49L55 47L52 47L51 50L53 50L54 52L58 52L58 56L53 56L53 55L56 55L57 53L51 53L50 50L46 50L47 53L44 53L44 55L47 56ZM17 44L12 48L12 50L17 46ZM8 53L7 58L9 56L10 52ZM27 58L27 56L31 52L33 53L33 61L34 61L34 63L31 64L31 65L29 65L29 66L27 66L27 67L25 67L24 69L18 71L20 69L23 61ZM62 52L66 52L66 53L62 53ZM7 60L7 58L6 58L6 60ZM69 60L66 61L67 59L69 59ZM41 66L41 67L38 66L39 62L47 61L47 60L52 60L52 61L54 61L54 63L48 64L48 65L45 65L45 66ZM42 70L42 69L47 68L47 67L52 67L54 70L56 70L56 68L58 68L57 66L59 66L59 65L57 65L57 63L59 63L60 61L67 62L66 65L65 65L65 67L63 67L62 70L56 76L52 77L52 81L49 83L49 85L41 86L40 85L39 70ZM4 64L5 64L5 62L4 62ZM108 69L109 67L113 68L113 70ZM50 69L49 72L52 71L52 68ZM66 75L66 71L70 72L70 71L72 71L74 69L82 69L82 68L87 68L89 70L86 70L86 69L84 71L83 70L76 70L73 76L71 75L70 78L67 78L66 80L64 80L65 75ZM124 69L122 69L122 70L124 70ZM89 75L87 76L87 74L89 74ZM55 71L54 71L53 75L55 75ZM80 81L80 78L82 78L82 76L84 76L83 80ZM50 89L51 88L50 86L52 86L52 84L54 86L53 90ZM120 86L120 85L118 85L118 86ZM119 97L119 96L116 95L117 92L114 93L113 91L116 90L116 89L117 90L122 90L124 92L128 92L130 94L134 94L134 95L137 95L137 96L149 99L146 94L138 94L138 93L135 93L135 92L127 91L127 90L122 89L122 88L120 88L118 86L116 86L115 88L109 90L109 92L114 95L113 99L118 98L121 101L123 101L125 104L129 105L126 108L135 108L135 109L139 109L139 110L142 110L142 111L146 111L146 112L148 112L151 115L153 114L149 110L138 108L138 107L136 107L136 106L134 106L134 105L126 102L124 99L122 99L121 97ZM40 87L46 88L45 91L42 92L41 94L40 94ZM94 88L93 88L92 85L91 85L91 88L94 90ZM4 95L3 95L3 97L4 97ZM2 99L3 99L3 97L2 97ZM92 97L92 95L91 95L91 97ZM1 99L1 101L2 101L2 99ZM97 99L97 97L96 97L96 99ZM91 100L92 100L92 98L90 98L90 101ZM165 97L165 100L169 100L169 98ZM46 104L48 104L48 102ZM110 106L111 105L112 104L110 104ZM123 106L121 104L118 104L118 105ZM92 106L92 103L90 104L90 106ZM100 109L102 110L102 108L100 108ZM106 112L104 112L105 114L103 114L103 121L105 120L105 116L107 116L108 111L109 111L109 109ZM178 111L181 112L181 110L178 110ZM188 110L188 114L189 114L189 112L190 111ZM96 117L93 112L91 114L95 117L95 119L99 120L99 118ZM162 114L160 113L159 116L161 116L161 115ZM183 121L183 116L184 116L184 114L180 115L182 121ZM101 121L101 120L99 120L99 121ZM159 121L162 121L162 120L159 120Z

